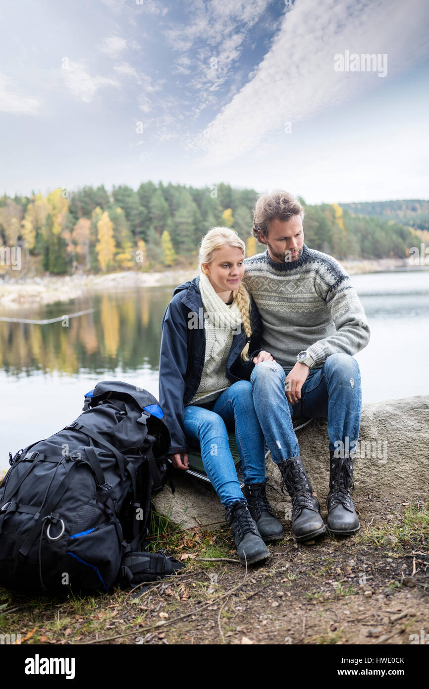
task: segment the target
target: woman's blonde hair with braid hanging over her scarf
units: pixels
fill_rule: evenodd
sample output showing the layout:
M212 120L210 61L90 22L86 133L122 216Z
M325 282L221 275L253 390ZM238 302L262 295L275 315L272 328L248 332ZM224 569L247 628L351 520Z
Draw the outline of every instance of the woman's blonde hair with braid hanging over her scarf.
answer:
M211 227L209 232L202 238L200 244L200 251L198 254L198 263L200 271L204 272L202 269L203 263L211 263L216 251L222 249L224 246L233 247L234 249L241 249L243 256L246 252L246 245L243 240L240 239L238 234L230 227ZM244 333L246 333L247 343L241 352L241 358L243 361L249 361L249 341L252 334L251 323L250 323L250 297L249 292L246 287L240 282L238 289L234 289L233 300L240 309L241 319L244 328Z

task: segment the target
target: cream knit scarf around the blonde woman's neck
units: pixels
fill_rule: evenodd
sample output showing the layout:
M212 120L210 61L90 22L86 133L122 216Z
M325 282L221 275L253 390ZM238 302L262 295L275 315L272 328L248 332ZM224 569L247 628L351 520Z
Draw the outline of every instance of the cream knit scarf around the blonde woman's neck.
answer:
M217 359L222 356L222 351L225 345L225 330L233 329L240 332L242 327L241 311L234 301L231 306L227 306L213 289L209 278L204 273L200 274L200 293L202 298L202 305L205 310L206 318L208 317L211 323L215 325L214 332L216 337L216 346L212 351L213 358Z

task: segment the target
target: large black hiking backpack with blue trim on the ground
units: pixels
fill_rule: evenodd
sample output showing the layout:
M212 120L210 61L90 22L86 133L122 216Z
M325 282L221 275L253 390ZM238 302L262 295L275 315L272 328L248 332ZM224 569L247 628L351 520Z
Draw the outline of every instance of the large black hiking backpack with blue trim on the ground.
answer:
M19 593L107 590L182 564L142 553L169 431L153 395L103 381L70 426L10 454L0 486L0 584Z

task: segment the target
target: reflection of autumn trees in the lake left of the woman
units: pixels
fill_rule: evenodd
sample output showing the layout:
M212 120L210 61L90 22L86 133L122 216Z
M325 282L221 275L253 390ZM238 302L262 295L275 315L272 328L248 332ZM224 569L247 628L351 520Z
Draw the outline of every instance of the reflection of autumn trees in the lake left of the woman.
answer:
M160 324L171 288L102 294L39 309L21 309L14 318L54 318L92 309L77 318L45 325L0 322L0 366L9 375L35 371L158 369ZM6 313L2 313L6 316Z

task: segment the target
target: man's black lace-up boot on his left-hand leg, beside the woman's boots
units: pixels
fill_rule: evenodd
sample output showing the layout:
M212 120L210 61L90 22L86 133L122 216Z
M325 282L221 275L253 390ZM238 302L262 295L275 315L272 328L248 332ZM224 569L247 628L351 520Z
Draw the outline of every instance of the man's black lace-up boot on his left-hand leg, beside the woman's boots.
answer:
M292 498L292 533L295 541L308 541L325 533L320 504L313 495L301 457L289 457L278 464L284 486Z

